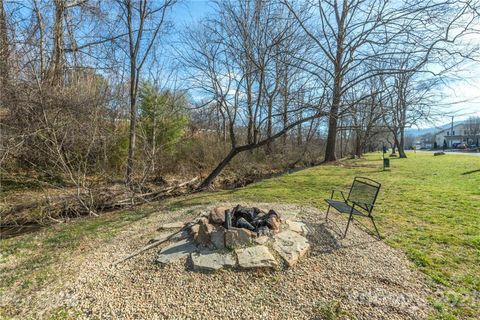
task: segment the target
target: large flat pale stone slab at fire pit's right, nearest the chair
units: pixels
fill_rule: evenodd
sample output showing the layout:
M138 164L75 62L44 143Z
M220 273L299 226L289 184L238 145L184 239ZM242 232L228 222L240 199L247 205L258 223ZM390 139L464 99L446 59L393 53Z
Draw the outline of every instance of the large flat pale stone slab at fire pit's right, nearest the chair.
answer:
M278 252L289 267L293 267L310 250L307 238L291 230L276 234L274 239L273 249Z

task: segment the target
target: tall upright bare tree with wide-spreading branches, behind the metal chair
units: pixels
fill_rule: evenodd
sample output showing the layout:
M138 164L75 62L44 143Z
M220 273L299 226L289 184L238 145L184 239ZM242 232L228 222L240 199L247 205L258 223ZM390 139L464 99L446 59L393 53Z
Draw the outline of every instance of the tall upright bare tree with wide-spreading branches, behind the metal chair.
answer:
M345 94L372 77L409 71L366 66L411 52L420 59L410 71L418 71L436 52L455 54L447 45L458 42L478 19L471 1L281 2L318 48L310 69L319 81L328 83L331 91L325 161L336 159L337 122L343 113ZM425 23L433 20L439 22Z

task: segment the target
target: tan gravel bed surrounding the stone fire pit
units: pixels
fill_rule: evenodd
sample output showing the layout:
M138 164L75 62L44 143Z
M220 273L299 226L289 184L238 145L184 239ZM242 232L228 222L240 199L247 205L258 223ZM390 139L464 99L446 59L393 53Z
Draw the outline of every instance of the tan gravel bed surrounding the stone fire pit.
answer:
M356 224L341 239L323 212L294 205L242 203L298 212L314 230L310 255L293 269L204 274L192 272L188 261L162 268L154 264L161 247L111 267L155 237L161 223L188 221L217 205L234 204L159 212L132 223L83 257L61 293L63 304L86 319L322 319L335 306L346 319L422 319L431 312L430 292L402 253ZM345 217L330 216L344 228Z

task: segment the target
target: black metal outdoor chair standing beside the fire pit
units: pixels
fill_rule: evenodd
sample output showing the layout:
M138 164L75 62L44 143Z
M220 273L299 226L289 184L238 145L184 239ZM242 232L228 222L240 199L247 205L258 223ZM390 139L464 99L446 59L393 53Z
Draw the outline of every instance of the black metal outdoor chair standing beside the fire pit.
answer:
M325 199L325 201L328 203L325 221L328 221L328 213L330 212L330 207L335 208L340 213L348 214L349 217L347 227L345 228L345 233L343 235L343 237L345 238L347 236L350 222L353 220L353 216L366 217L372 220L378 238L381 239L380 232L378 232L377 226L375 225L375 221L373 220L372 216L373 207L375 205L375 201L377 200L380 186L380 183L373 181L372 179L355 177L346 198L343 191L333 189L330 199ZM338 201L333 199L335 191L340 192L343 200Z

